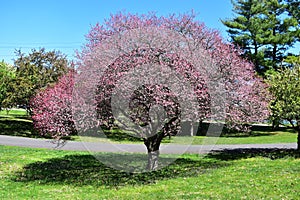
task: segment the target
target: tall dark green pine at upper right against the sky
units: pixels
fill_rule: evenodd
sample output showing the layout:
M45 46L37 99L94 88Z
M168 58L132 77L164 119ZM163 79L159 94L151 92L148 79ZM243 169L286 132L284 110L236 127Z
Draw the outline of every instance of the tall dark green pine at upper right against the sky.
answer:
M232 1L237 16L222 21L232 42L244 50L259 74L277 70L287 50L299 40L299 21L294 6L281 0Z

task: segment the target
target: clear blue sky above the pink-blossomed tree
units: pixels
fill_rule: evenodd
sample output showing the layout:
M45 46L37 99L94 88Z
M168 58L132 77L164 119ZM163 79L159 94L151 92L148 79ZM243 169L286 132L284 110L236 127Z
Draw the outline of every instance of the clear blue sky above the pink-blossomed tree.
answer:
M197 20L221 31L220 19L230 18L230 0L8 0L1 2L0 60L12 63L15 49L59 50L69 59L85 43L91 26L118 11L157 15L194 10Z

